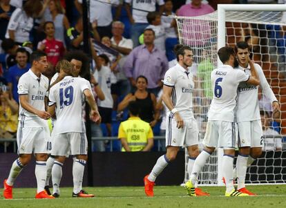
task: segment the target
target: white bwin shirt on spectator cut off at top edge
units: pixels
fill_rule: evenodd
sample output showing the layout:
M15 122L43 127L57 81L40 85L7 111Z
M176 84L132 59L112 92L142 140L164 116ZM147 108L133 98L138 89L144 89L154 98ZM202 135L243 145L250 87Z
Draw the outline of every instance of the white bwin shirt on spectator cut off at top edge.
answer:
M124 1L126 3L132 4L133 8L132 16L135 23L148 23L146 19L148 12L154 12L156 10L156 3L158 3L159 6L164 5L164 0L145 0L145 1L124 0Z

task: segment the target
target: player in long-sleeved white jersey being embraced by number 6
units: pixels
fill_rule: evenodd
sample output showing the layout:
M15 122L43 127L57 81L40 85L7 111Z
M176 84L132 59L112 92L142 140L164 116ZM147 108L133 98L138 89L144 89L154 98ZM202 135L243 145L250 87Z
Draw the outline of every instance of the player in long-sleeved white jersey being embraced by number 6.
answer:
M245 41L236 44L236 56L238 57L238 70L242 70L251 75L249 45ZM256 73L260 80L260 87L263 94L271 101L273 111L278 111L278 103L271 90L263 69L254 64ZM258 86L240 83L238 86L238 102L236 108L236 122L238 123L238 159L236 169L233 170L233 178L238 178L238 191L256 195L245 188L245 176L247 167L251 165L262 153L263 129L260 121L260 109L258 103Z

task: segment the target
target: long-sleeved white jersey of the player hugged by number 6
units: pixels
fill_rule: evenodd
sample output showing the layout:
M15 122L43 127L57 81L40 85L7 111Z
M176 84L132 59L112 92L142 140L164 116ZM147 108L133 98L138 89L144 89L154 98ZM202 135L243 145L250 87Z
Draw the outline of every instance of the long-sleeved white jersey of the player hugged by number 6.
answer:
M263 73L263 69L258 65L254 64L256 73L260 80L260 87L263 94L267 97L270 102L277 101L274 93L272 92L267 79ZM250 66L242 68L238 66L238 70L242 70L247 75L251 75ZM253 120L260 120L260 108L258 102L258 86L254 86L247 83L240 83L238 85L238 103L236 106L236 122L247 122Z

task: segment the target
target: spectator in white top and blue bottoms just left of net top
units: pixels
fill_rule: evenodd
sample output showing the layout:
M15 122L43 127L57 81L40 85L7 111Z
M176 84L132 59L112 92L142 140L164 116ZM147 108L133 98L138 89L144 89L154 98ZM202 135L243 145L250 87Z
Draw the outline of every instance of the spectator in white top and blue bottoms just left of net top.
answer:
M175 15L173 12L173 2L172 0L165 0L164 12L161 17L162 25L166 31L166 57L168 61L175 59L175 54L173 53L173 48L178 44L178 37L175 31L175 19L168 17L169 15Z

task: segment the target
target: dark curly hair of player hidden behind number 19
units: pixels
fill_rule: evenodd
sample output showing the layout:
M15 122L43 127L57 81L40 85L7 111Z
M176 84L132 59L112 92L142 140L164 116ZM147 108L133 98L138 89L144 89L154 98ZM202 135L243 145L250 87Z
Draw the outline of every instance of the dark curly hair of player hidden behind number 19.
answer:
M70 62L72 59L76 59L82 62L82 69L79 72L79 76L90 80L90 59L81 50L71 50L64 55L64 59Z

